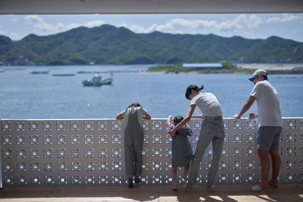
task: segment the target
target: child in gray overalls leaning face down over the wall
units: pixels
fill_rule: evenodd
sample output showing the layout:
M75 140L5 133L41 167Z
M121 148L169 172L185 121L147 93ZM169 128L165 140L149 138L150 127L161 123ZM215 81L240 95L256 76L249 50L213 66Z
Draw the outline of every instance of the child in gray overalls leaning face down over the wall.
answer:
M128 177L129 188L134 187L132 177L135 176L135 183L141 182L139 176L142 174L143 118L151 119L139 103L131 104L116 116L116 119L126 120L124 147L126 177Z

